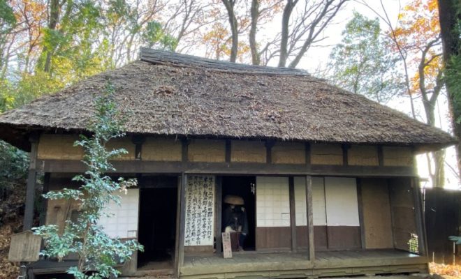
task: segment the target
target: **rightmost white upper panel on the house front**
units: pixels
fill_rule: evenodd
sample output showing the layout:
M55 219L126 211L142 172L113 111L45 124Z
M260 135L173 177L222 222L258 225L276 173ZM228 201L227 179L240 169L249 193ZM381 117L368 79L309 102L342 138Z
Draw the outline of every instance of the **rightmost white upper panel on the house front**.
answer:
M359 226L357 184L354 178L325 177L328 226Z

